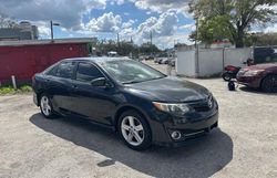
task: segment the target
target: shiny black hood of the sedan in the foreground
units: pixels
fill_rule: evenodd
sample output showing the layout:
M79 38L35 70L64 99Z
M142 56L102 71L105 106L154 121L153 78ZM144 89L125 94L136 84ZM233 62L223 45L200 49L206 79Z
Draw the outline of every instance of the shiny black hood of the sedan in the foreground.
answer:
M174 76L130 84L127 90L148 100L166 103L201 101L211 95L207 88Z

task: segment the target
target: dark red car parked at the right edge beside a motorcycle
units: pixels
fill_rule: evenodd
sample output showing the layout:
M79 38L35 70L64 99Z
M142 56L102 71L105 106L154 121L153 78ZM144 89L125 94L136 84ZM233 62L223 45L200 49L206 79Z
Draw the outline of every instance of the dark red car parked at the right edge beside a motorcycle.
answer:
M265 92L277 92L277 63L258 64L242 69L237 81L254 88Z

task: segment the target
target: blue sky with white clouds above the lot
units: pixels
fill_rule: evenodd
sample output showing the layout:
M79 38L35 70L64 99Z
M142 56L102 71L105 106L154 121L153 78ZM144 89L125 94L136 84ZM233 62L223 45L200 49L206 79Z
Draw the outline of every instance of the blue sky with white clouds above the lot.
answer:
M192 43L189 33L195 21L187 12L189 0L0 0L0 12L19 21L38 25L40 38L92 38L150 41L161 49L174 42ZM276 31L277 23L264 31ZM258 30L258 29L255 29Z

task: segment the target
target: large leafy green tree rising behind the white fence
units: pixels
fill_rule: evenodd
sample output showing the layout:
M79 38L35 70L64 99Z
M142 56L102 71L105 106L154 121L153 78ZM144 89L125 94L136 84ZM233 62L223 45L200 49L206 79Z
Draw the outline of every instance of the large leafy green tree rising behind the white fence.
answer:
M275 4L277 0L192 0L189 12L199 21L199 30L197 38L196 33L191 38L206 43L228 38L243 48L253 24L274 22Z

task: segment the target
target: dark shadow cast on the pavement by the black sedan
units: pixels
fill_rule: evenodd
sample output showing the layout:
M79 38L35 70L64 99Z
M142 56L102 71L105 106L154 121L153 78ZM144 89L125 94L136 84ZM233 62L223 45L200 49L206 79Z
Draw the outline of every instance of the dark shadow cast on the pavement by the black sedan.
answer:
M96 166L120 161L153 177L206 178L223 169L233 159L233 140L219 128L198 142L181 147L153 146L145 151L127 148L116 133L76 118L45 119L34 114L30 122L60 138L107 157Z

